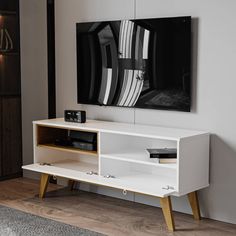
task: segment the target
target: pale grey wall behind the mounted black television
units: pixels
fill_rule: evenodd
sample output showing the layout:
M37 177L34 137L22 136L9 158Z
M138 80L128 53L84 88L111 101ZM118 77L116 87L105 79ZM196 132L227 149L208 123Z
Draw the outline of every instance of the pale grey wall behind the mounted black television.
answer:
M236 223L235 9L235 0L56 1L58 116L62 116L64 109L82 108L90 118L210 131L211 185L200 192L201 207L205 216L232 223ZM101 108L76 103L76 22L180 15L193 17L191 113ZM103 188L97 191L106 192ZM107 193L118 194L110 190ZM117 196L121 196L120 193ZM157 205L153 198L136 195L135 199ZM173 205L176 210L190 211L186 198L174 199Z

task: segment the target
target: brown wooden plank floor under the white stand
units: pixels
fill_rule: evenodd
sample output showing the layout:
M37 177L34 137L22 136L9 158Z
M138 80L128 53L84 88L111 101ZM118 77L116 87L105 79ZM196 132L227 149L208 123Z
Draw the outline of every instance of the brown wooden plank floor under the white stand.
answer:
M0 205L90 229L106 235L236 235L236 225L174 213L176 232L167 231L161 209L82 191L49 185L46 199L38 198L38 181L0 182Z

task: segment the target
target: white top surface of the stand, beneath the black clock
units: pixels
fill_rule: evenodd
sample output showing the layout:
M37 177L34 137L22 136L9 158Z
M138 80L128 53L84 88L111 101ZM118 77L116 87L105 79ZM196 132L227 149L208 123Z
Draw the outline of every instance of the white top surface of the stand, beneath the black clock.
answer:
M34 124L50 127L78 129L104 133L134 135L141 137L160 138L178 141L181 138L207 134L205 131L167 128L140 124L87 120L86 123L65 122L64 118L34 121Z

